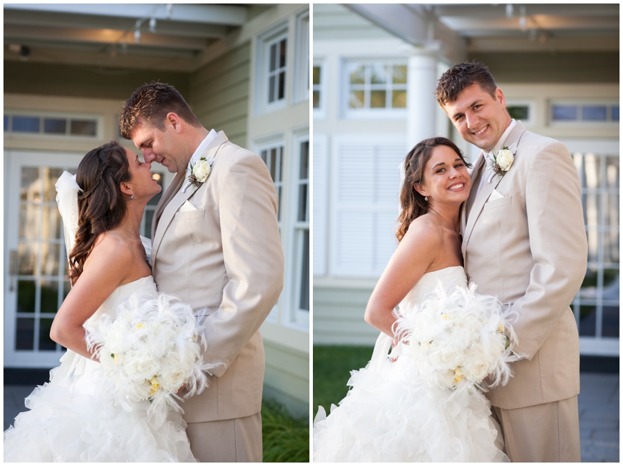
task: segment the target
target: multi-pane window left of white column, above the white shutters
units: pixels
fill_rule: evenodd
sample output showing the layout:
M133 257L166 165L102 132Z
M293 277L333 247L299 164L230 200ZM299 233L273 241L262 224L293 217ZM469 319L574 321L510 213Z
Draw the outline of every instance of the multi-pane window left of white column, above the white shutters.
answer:
M346 113L379 116L405 115L407 66L405 62L346 62Z

